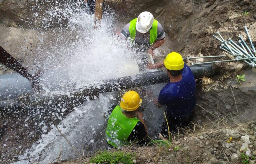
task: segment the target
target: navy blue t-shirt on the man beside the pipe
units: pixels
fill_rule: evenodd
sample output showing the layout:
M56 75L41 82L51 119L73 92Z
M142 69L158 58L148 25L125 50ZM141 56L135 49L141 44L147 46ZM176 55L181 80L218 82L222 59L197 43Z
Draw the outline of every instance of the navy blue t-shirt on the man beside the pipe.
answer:
M166 84L159 93L158 102L166 106L168 117L173 119L189 117L196 104L196 82L191 69L186 64L181 81Z

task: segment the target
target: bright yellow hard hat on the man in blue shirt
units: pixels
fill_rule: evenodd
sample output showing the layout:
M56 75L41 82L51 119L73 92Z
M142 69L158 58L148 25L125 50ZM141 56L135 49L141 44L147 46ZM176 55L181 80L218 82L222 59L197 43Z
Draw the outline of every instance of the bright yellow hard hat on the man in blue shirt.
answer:
M179 53L171 52L164 59L164 65L169 70L177 71L183 69L184 61Z

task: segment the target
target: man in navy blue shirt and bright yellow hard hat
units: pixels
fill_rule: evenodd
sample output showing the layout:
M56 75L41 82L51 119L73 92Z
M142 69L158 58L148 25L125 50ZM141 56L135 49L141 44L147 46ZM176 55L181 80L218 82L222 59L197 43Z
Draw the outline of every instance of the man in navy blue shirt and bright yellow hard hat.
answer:
M164 65L170 81L160 91L156 103L158 107L166 106L165 113L172 131L182 126L192 115L196 104L196 82L191 69L184 64L179 53L169 53ZM162 126L164 134L168 133L166 125L163 123Z

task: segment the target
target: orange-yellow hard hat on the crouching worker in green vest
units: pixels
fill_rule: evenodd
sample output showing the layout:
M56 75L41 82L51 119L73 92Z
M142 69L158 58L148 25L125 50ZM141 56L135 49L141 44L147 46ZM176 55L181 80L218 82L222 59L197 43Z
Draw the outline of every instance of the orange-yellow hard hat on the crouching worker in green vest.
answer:
M142 99L135 91L128 91L123 95L120 107L125 111L135 111L142 103Z

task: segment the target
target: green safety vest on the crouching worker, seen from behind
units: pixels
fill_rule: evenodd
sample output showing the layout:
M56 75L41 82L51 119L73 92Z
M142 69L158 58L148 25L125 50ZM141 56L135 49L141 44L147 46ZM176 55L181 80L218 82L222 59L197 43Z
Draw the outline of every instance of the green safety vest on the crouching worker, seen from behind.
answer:
M116 148L122 145L131 145L132 142L127 139L138 121L137 118L126 117L122 113L121 107L116 106L108 119L107 142Z

